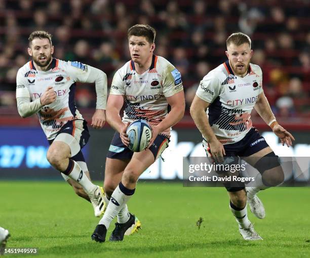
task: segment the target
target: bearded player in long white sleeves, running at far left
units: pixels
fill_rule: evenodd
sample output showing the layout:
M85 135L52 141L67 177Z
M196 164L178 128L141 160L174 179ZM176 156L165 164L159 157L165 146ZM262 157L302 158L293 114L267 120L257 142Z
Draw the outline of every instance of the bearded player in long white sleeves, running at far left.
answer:
M92 66L53 58L52 35L33 31L29 36L30 62L22 66L16 78L18 113L26 118L36 114L50 147L47 159L59 170L76 194L90 201L95 216L104 212L103 189L90 181L81 149L90 135L87 122L74 102L75 82L95 83L97 104L92 126L105 123L107 79Z

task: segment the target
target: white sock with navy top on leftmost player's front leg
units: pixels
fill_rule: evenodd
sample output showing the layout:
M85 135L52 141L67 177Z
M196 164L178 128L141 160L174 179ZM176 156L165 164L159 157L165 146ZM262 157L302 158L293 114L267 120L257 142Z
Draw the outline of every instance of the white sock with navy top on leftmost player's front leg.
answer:
M96 187L82 171L81 167L74 160L69 159L68 168L64 171L64 174L67 174L74 181L80 183L85 192L89 194Z

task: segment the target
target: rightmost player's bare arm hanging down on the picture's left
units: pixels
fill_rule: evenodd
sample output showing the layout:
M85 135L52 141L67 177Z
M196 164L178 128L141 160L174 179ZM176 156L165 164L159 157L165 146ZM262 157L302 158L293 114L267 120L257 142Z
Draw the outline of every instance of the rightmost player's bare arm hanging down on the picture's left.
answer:
M225 150L223 144L216 138L206 114L206 110L210 103L201 99L197 95L193 99L190 106L190 115L195 122L198 130L202 133L210 145L210 151L216 161L223 162Z

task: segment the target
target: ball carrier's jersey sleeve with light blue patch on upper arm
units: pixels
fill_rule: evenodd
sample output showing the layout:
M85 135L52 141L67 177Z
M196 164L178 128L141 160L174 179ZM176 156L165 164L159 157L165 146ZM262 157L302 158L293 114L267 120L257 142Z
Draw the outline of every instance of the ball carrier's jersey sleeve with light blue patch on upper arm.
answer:
M183 91L181 73L172 64L164 70L163 93L165 97L171 97Z

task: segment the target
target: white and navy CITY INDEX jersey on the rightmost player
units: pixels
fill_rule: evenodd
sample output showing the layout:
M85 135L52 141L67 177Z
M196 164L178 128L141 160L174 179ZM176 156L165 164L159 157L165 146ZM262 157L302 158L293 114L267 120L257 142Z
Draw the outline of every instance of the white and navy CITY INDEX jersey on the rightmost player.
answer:
M211 103L207 114L213 132L223 144L240 141L252 128L251 111L262 93L262 71L249 65L241 78L234 75L228 60L210 71L196 95Z

